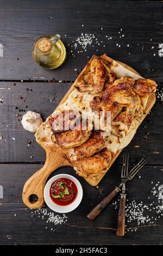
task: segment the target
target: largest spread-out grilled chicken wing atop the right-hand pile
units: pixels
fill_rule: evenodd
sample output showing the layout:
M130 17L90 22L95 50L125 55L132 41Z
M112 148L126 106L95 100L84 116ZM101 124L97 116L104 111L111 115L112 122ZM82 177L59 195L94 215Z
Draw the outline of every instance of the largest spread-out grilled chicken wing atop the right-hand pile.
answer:
M123 107L126 106L126 120L128 129L133 121L134 113L136 111L138 103L140 104L139 97L135 95L133 90L134 78L125 76L117 79L109 88L103 93L102 99L93 99L90 103L90 107L93 107L95 111L101 109L106 113L106 111L111 112L111 121L116 118L118 114L122 111ZM97 101L97 103L96 103ZM97 105L97 107L96 107ZM116 127L112 125L112 133L120 136Z

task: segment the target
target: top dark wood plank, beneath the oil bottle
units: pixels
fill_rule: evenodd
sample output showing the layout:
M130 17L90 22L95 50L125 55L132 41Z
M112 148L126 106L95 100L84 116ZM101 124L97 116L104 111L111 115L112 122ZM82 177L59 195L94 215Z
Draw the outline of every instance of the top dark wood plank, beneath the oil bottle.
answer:
M162 43L161 14L161 1L41 0L38 4L31 0L2 0L0 43L4 57L0 57L0 79L54 77L72 81L85 66L87 57L107 53L133 66L142 76L163 81L162 59L158 56L158 45ZM40 36L54 33L61 34L69 56L64 66L48 71L34 63L32 45ZM82 47L71 46L81 33L94 33L100 45L94 40L86 52L78 53ZM70 56L71 50L76 57Z

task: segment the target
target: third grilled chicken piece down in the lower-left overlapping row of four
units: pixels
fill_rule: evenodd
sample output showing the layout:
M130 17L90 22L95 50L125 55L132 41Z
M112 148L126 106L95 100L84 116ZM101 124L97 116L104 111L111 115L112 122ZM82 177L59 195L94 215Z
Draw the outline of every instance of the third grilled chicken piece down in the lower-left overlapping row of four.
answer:
M105 141L106 136L103 131L93 131L90 138L84 144L74 148L77 159L79 157L88 157L101 151L105 148Z

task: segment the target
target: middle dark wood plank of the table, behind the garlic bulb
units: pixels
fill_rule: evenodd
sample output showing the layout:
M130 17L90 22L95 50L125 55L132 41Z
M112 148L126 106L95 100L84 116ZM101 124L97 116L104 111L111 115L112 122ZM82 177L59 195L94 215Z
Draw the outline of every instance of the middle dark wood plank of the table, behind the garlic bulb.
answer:
M57 107L71 84L44 82L16 82L15 86L13 84L13 82L0 82L0 99L3 100L0 105L0 133L3 136L0 140L0 161L44 162L44 150L35 142L34 134L23 129L21 121L17 121L22 116L16 117L16 114L23 115L25 113L19 112L19 109L32 110L41 113L45 120ZM53 99L55 94L57 100L50 102L49 99ZM23 102L24 100L25 102ZM28 107L26 108L26 106ZM132 161L146 156L149 164L163 164L161 109L162 105L157 101L151 114L146 117L137 130L133 141L124 149L124 152L130 154ZM31 139L34 142L28 146L28 141ZM120 156L116 163L121 163L121 161Z

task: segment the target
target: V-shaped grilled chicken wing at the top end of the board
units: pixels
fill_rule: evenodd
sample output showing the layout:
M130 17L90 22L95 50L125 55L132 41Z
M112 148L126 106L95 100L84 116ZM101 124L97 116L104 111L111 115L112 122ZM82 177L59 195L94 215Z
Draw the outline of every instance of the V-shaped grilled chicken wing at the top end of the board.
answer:
M105 82L107 87L114 82L116 76L109 67L100 59L93 59L91 62L92 84L80 84L75 86L80 92L99 93L103 90Z

